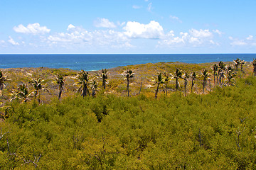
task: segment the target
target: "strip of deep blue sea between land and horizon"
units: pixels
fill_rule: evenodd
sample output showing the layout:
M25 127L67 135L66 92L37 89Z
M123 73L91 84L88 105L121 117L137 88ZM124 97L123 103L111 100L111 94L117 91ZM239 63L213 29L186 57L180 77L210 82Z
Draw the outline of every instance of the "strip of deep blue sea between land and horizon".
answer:
M74 70L100 70L132 64L156 62L229 62L237 58L251 62L256 54L186 54L186 55L0 55L1 68L49 67Z

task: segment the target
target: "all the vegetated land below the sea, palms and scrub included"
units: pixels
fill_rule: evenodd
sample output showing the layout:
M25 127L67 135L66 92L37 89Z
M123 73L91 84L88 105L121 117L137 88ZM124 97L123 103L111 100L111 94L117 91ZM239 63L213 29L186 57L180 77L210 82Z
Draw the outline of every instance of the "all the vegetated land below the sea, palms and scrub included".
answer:
M239 61L3 69L0 169L256 169L256 62Z

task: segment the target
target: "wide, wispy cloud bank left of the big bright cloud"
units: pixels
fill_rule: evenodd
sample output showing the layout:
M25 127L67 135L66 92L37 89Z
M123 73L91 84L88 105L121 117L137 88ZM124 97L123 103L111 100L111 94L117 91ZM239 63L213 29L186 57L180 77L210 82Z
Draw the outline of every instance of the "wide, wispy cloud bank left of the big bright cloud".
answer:
M94 30L92 32L81 27L68 26L68 33L55 33L45 40L49 46L61 47L112 47L115 49L133 47L129 38L122 32L114 30Z

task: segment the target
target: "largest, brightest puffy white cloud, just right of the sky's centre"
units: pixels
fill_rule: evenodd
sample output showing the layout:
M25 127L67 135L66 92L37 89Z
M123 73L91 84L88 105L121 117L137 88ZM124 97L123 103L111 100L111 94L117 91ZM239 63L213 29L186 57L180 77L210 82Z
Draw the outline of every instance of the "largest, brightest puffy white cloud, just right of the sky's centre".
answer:
M129 21L127 25L124 26L124 30L124 34L129 38L159 39L164 36L163 27L156 21L150 21L149 24Z

